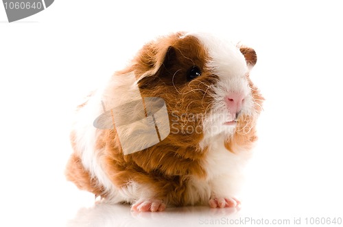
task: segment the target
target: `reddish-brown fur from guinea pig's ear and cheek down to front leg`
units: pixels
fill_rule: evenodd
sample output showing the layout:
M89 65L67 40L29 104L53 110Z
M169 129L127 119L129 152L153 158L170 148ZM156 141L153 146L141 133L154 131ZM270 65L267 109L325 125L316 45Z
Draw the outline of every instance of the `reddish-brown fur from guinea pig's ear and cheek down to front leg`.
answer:
M206 74L206 51L198 40L187 37L180 42L178 36L180 34L164 38L162 42L160 40L145 45L130 68L137 78L145 75L139 81L143 97L154 96L168 100L166 105L169 119L173 118L173 110L174 116L180 117L180 114L190 110L193 114L202 114L209 109L211 100L204 97L204 93L206 85L216 79L215 76ZM202 79L187 83L185 75L194 65L202 69ZM189 92L191 90L193 91ZM201 123L197 120L185 122L183 126L195 127ZM155 198L168 200L174 205L183 205L187 199L185 189L189 176L206 176L201 165L206 150L198 147L202 133L196 136L184 135L180 129L180 133L171 133L156 146L125 156L120 150L116 133L109 131L105 136L107 139L104 140L108 141L107 172L117 187L125 187L130 181L150 185L156 189Z

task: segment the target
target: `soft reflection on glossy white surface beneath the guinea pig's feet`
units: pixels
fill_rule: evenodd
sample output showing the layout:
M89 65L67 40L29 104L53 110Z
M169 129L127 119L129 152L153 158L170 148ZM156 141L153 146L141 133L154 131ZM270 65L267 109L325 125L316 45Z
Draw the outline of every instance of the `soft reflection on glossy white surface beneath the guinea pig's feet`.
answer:
M204 224L209 223L210 220L231 219L235 217L235 215L237 215L236 209L210 209L207 206L186 206L168 208L165 212L137 213L130 211L130 206L128 205L95 204L90 208L80 209L77 215L69 220L67 227L203 226Z

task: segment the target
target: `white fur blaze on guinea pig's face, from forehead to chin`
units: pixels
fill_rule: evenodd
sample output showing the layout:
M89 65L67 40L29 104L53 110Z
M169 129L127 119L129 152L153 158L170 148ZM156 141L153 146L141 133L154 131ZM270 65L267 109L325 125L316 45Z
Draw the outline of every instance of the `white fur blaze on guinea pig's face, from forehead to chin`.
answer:
M246 78L249 72L246 59L236 45L211 34L190 33L185 36L194 36L200 40L209 53L210 62L206 63L206 67L219 77L219 81L211 87L213 105L203 121L204 140L210 141L211 137L220 133L232 135L235 127L224 124L234 120L224 102L225 96L233 92L243 94L241 114L252 114L253 102Z

